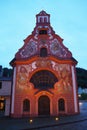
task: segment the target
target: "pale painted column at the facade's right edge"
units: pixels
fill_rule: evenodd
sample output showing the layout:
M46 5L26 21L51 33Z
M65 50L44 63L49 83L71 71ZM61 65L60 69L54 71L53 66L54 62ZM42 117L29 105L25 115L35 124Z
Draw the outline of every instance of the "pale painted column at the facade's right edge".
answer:
M78 112L78 105L77 105L77 93L76 93L76 76L75 76L75 70L74 66L72 66L72 82L73 82L73 92L74 92L74 107L75 107L75 112Z

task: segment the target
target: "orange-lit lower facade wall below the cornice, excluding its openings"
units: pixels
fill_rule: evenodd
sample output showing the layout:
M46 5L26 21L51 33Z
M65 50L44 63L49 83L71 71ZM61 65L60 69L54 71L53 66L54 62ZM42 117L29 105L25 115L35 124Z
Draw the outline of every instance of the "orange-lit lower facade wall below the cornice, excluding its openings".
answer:
M50 64L47 64L48 61ZM34 85L29 82L34 73L44 69L41 64L42 62L44 63L45 70L49 70L54 73L58 78L58 82L54 84L52 89L47 89L44 91L35 88ZM37 66L37 64L39 64L39 66ZM75 80L74 85L76 87ZM18 65L16 67L14 87L14 108L11 114L13 117L22 117L24 115L38 116L38 99L41 95L46 95L49 97L50 115L52 116L78 113L78 107L75 104L77 98L74 98L74 95L76 95L76 90L74 90L73 87L72 65L59 64L52 60L45 60L45 62L43 60L36 60L28 63L27 65ZM63 112L59 112L58 110L58 101L61 98L65 101L65 111ZM30 101L29 112L23 112L23 101L25 99Z

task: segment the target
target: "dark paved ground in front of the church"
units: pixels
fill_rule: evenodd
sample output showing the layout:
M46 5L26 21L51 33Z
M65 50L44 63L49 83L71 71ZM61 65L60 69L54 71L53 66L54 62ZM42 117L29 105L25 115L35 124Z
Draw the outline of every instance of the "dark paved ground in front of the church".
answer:
M0 130L87 130L87 102L80 103L79 115L13 119L0 118Z

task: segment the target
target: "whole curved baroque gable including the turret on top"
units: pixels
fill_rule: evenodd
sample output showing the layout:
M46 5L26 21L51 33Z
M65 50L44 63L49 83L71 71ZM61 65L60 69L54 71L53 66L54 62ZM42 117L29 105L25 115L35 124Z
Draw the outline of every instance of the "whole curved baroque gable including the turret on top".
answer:
M44 16L44 21L41 21L39 16L40 18ZM50 15L41 11L36 15L36 18L38 24L36 24L32 34L24 40L23 47L16 53L16 60L40 56L41 48L47 49L47 56L54 56L58 59L72 59L72 53L64 46L63 39L56 35L50 26Z

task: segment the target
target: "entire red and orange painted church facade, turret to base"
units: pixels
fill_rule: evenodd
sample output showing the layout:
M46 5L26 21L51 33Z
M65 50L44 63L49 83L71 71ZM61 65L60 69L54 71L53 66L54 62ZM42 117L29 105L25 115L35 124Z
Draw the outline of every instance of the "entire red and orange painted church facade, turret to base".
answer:
M13 67L11 116L79 113L77 61L41 11L36 26L10 62Z

